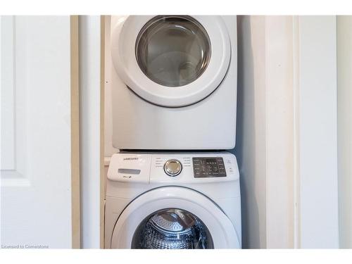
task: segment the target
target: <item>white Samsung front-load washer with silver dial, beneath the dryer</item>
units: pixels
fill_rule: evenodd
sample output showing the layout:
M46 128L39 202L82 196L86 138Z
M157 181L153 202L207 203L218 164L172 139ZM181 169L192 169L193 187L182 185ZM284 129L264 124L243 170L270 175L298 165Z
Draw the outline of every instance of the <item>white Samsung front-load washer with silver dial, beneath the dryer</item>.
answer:
M106 186L107 249L239 249L234 155L116 153Z

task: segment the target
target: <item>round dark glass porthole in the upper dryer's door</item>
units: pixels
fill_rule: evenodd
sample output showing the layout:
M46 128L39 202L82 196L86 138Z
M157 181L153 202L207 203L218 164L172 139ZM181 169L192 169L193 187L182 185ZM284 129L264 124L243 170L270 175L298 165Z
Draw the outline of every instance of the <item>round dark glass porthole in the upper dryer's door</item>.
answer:
M158 15L139 32L135 53L139 68L153 82L182 87L206 70L210 39L190 16Z

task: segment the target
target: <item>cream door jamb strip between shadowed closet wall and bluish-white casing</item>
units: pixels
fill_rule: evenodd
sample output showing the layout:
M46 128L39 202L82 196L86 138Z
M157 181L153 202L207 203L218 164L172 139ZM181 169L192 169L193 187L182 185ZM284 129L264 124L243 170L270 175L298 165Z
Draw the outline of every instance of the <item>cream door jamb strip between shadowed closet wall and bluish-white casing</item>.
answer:
M294 247L293 18L265 17L268 249Z

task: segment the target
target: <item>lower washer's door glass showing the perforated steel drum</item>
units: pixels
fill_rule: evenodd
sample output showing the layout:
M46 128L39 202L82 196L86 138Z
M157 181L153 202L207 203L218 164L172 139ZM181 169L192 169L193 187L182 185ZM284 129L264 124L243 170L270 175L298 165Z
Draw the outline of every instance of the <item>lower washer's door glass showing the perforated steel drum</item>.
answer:
M168 208L145 218L134 232L132 249L213 249L206 225L187 210Z

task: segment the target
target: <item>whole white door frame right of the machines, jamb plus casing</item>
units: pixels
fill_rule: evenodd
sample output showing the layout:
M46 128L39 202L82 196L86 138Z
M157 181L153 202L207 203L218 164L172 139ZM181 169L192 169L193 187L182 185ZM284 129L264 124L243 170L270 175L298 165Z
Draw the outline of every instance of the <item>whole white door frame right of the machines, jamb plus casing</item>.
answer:
M338 248L336 17L265 25L267 247Z

